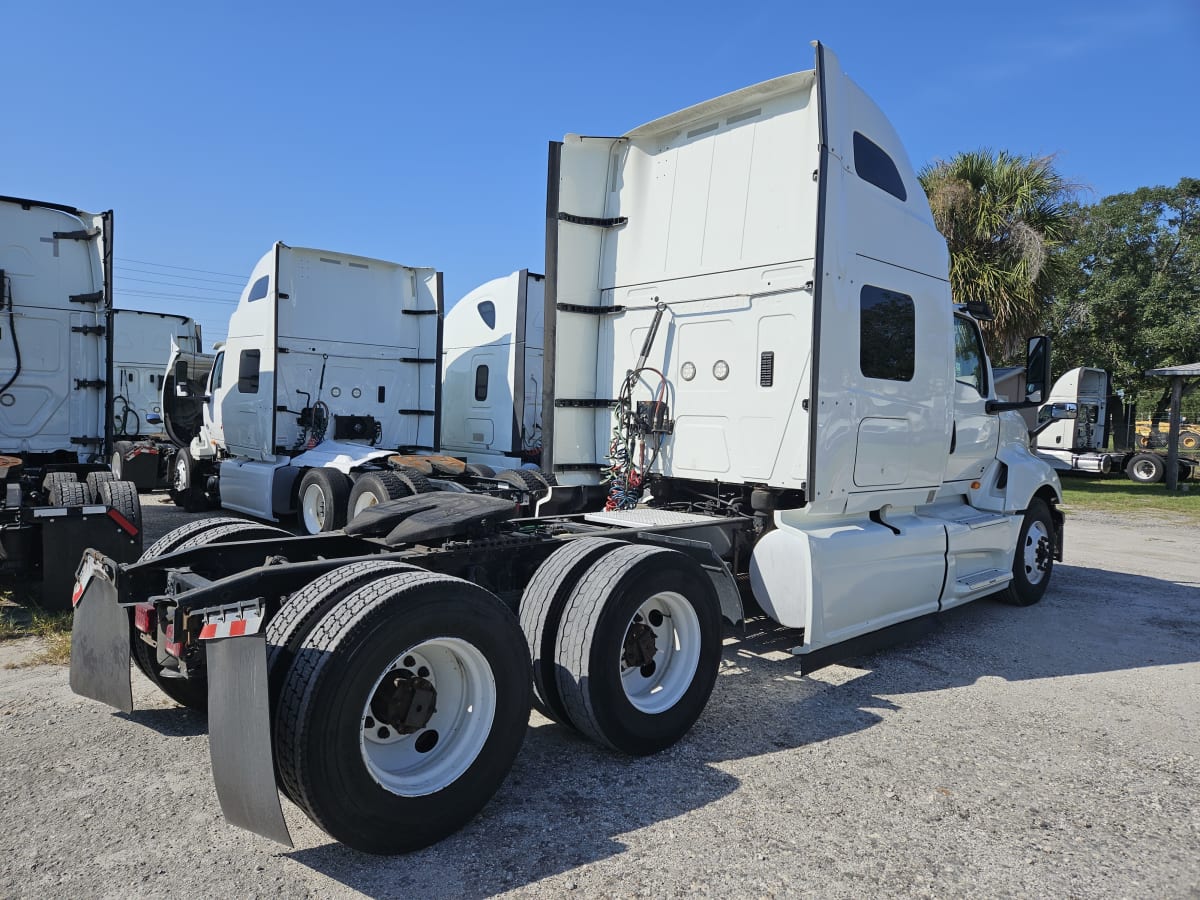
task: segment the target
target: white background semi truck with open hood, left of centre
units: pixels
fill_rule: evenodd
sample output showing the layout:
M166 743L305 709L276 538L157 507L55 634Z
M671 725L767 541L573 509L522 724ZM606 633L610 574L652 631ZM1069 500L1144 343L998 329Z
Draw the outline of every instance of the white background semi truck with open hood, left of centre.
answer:
M438 452L442 301L434 269L276 244L220 350L180 348L168 366L175 502L271 522L295 514L317 534L436 488L547 491L536 473Z

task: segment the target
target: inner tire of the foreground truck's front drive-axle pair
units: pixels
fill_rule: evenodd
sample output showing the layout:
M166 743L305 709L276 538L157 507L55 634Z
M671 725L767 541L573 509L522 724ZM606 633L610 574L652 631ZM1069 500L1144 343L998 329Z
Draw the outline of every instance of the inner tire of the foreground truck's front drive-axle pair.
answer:
M521 595L521 630L533 662L534 706L547 719L562 725L571 725L563 695L558 691L554 661L563 607L580 578L600 557L626 546L623 541L605 538L568 541L538 566Z

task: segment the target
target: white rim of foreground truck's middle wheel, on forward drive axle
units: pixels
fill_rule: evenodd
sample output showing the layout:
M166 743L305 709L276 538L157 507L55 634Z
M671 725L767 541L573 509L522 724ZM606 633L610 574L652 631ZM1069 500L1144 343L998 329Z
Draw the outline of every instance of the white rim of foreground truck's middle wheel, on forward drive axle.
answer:
M700 617L682 594L664 590L637 608L625 634L638 624L654 632L654 658L643 666L628 666L622 647L620 686L635 709L654 715L671 709L691 686L700 665Z

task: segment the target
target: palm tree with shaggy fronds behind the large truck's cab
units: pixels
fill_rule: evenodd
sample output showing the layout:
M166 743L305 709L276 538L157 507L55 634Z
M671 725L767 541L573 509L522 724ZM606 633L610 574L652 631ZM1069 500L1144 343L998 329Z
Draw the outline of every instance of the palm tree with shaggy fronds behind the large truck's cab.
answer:
M1052 163L977 150L918 175L950 248L954 296L982 300L996 317L984 334L997 361L1021 354L1064 272L1056 251L1070 235L1075 186Z

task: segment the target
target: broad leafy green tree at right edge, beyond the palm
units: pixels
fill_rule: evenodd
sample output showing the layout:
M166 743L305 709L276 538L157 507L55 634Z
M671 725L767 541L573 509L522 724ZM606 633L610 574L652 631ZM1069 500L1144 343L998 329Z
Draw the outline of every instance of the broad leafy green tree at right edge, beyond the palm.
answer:
M1108 370L1127 398L1150 395L1162 415L1169 382L1146 370L1200 362L1200 180L1114 194L1074 215L1049 316L1056 368Z

